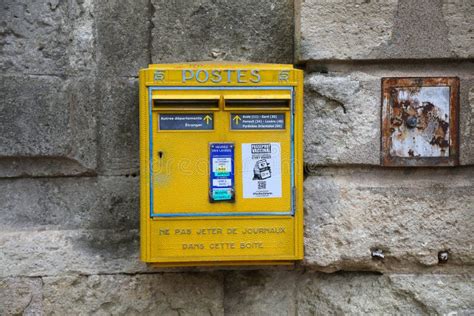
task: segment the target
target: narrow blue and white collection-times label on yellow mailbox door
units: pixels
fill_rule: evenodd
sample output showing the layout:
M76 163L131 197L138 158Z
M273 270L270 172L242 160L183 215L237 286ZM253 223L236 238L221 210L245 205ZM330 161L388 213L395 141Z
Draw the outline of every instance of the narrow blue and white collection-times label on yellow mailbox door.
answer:
M234 201L234 144L210 144L209 200Z

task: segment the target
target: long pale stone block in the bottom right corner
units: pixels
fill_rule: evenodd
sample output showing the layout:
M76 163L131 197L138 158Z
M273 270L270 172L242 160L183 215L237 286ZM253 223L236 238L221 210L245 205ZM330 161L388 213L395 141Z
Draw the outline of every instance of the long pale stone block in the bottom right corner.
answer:
M302 274L298 315L470 315L469 275Z

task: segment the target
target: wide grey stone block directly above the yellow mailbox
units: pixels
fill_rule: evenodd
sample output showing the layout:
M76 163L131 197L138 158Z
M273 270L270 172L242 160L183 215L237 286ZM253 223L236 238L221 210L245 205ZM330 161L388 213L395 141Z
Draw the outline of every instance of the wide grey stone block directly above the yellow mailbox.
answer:
M152 0L152 60L293 61L293 1Z

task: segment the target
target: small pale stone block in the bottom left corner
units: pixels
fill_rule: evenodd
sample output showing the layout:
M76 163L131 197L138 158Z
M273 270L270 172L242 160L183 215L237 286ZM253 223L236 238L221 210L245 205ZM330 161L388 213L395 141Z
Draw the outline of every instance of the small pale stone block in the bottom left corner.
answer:
M0 279L0 315L42 315L40 278Z

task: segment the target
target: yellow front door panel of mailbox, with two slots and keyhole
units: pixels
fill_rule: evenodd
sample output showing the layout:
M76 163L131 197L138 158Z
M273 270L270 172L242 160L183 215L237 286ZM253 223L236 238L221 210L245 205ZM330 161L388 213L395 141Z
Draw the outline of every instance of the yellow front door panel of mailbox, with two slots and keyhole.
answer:
M152 88L151 216L292 214L292 88L168 89ZM210 146L222 143L235 197L212 201Z

